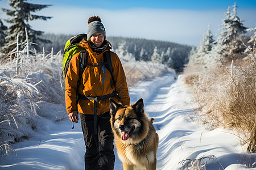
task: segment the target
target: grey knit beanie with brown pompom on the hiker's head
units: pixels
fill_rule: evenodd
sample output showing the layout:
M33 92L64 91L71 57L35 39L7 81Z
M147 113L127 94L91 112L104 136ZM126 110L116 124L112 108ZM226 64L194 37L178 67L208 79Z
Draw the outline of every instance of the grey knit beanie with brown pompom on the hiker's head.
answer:
M101 23L99 16L91 16L88 19L87 37L90 39L95 33L101 33L106 40L106 31L104 25Z

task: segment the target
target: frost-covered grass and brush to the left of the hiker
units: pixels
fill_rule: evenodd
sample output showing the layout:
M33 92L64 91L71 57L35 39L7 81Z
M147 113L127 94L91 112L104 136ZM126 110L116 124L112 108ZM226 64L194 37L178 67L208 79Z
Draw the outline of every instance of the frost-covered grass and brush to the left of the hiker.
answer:
M19 51L0 65L0 147L1 156L12 151L11 143L35 137L42 129L42 117L59 121L60 111L45 112L47 104L64 108L60 90L61 56Z

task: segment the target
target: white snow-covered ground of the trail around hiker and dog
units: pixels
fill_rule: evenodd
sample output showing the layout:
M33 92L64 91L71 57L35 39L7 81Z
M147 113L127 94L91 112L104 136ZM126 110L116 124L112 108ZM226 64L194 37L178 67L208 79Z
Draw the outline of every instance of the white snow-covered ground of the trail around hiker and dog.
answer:
M168 73L129 91L131 103L142 97L145 111L155 119L158 169L256 169L247 168L255 162L255 155L247 153L233 131L208 131L193 121L193 101L182 75L176 80L174 73ZM45 111L65 112L65 107L51 105ZM68 116L59 123L45 118L43 127L40 138L14 144L14 154L1 160L0 169L84 169L80 122L72 130ZM114 169L122 169L117 157Z

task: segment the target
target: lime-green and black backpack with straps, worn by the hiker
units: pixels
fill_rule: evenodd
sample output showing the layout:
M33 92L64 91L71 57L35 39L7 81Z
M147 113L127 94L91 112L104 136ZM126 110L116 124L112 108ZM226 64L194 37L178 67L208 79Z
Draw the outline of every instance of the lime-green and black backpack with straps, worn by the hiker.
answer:
M64 90L65 78L67 75L69 63L73 55L80 52L79 57L80 57L81 64L79 67L79 80L77 82L77 86L79 86L80 80L82 78L82 73L84 73L85 67L88 65L93 65L93 64L87 63L88 52L79 45L79 42L84 38L86 39L87 35L85 33L81 33L71 37L71 39L69 39L65 44L64 53L63 53L63 71L61 72L61 80L60 80L61 90ZM112 86L112 84L115 84L115 82L113 77L113 66L112 66L110 51L104 52L103 56L104 56L104 63L97 63L93 66L102 65L102 69L104 69L104 74L105 74L105 67L106 69L109 70L109 73L112 76L112 82L110 83ZM105 75L104 75L104 78L105 78Z

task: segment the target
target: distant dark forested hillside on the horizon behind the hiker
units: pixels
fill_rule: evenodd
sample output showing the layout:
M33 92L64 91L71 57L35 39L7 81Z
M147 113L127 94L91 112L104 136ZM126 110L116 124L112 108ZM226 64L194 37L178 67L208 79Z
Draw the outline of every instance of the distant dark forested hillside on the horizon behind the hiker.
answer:
M51 40L51 43L40 44L39 49L45 48L53 53L63 53L65 42L73 35L55 35L46 33L44 39ZM127 37L107 37L113 45L113 50L119 57L126 59L134 58L143 61L155 61L175 69L177 72L183 71L184 65L188 62L188 55L192 46L177 44L169 41L157 41Z

